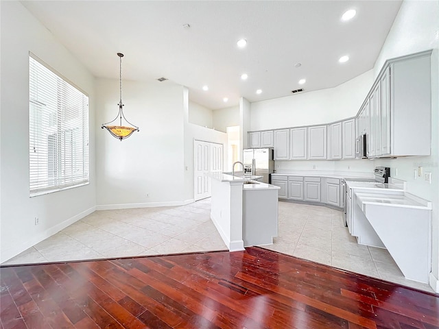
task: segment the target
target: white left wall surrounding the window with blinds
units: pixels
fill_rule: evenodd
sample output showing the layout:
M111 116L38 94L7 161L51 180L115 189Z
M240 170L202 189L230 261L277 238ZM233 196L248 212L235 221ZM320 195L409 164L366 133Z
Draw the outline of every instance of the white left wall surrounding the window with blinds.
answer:
M1 1L0 262L95 208L93 76L19 1ZM29 51L88 93L90 184L29 198ZM40 223L34 225L34 217Z

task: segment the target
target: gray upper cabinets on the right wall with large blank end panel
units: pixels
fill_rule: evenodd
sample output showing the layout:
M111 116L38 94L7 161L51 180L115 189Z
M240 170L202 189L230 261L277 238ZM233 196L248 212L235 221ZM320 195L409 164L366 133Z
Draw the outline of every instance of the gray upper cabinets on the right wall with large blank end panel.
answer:
M368 158L431 154L431 51L389 60L358 114Z

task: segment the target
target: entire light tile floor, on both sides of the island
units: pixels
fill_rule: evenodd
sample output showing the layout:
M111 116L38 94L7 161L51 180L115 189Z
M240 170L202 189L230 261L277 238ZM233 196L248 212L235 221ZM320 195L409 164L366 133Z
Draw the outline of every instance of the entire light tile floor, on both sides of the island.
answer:
M210 199L204 199L95 211L2 265L225 250L210 209ZM387 250L358 245L339 210L279 202L278 232L273 245L262 247L433 292L428 284L406 280Z

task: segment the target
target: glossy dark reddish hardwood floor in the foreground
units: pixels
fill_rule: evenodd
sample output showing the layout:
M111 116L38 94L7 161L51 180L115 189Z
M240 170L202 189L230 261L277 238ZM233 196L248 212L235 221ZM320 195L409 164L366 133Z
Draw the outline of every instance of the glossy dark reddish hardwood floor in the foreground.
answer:
M438 295L257 247L0 276L0 329L439 328Z

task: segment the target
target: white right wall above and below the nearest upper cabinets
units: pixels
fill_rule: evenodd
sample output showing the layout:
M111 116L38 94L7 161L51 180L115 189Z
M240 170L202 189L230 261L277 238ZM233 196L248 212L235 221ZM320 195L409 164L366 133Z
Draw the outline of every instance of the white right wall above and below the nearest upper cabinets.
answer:
M375 76L388 58L434 49L431 56L431 156L376 160L386 165L397 178L407 181L408 191L433 202L433 267L432 274L439 292L439 1L404 1L375 63ZM416 111L416 109L414 109ZM414 169L423 167L432 173L432 184L414 179ZM430 282L432 284L432 282ZM435 284L433 284L435 285Z

